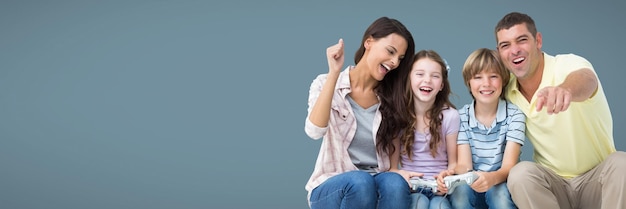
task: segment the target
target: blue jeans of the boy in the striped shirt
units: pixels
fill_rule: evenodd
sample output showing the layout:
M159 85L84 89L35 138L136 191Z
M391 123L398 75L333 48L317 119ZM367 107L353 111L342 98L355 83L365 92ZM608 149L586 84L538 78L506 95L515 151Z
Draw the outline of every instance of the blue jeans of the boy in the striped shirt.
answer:
M476 192L467 184L459 185L450 194L450 202L455 209L469 208L517 208L511 199L506 182L491 187L487 192Z

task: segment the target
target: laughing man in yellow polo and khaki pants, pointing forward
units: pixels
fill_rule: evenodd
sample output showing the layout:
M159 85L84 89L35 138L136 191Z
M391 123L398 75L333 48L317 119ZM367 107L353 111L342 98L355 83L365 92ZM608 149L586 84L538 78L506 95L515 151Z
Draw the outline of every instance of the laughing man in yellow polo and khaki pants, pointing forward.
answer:
M626 153L617 152L613 119L589 61L549 55L534 20L505 15L495 27L497 49L513 74L506 97L526 114L533 162L508 178L515 204L526 208L626 208Z

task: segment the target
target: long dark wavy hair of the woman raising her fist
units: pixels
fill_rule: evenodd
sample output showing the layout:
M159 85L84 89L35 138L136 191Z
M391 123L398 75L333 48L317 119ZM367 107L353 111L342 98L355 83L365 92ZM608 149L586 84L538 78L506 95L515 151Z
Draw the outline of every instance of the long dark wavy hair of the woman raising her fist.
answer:
M361 46L354 55L354 63L357 64L365 54L365 41L368 38L380 39L390 34L398 34L407 42L406 55L415 53L415 43L411 32L396 19L381 17L375 20L363 34ZM400 64L394 70L389 71L385 77L378 83L375 88L376 94L380 99L379 110L382 115L382 121L376 134L376 147L378 152L393 153L393 139L397 138L402 127L406 123L405 112L399 112L404 109L402 85L406 81L406 71L411 70L413 63L412 57L405 57L400 60Z

